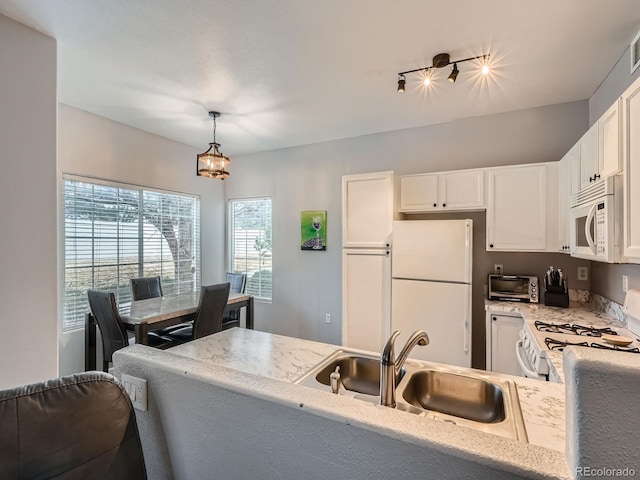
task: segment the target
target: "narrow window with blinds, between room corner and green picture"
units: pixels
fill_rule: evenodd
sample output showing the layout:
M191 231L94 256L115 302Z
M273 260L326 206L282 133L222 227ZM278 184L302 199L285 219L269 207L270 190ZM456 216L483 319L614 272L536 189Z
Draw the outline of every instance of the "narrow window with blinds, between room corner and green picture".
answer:
M271 301L271 198L229 201L231 271L247 274L246 292Z

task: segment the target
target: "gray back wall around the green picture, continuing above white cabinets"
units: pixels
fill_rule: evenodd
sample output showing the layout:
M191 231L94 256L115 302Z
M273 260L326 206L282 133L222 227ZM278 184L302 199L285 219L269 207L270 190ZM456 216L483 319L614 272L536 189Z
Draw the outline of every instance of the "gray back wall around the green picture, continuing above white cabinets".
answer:
M557 161L587 122L582 101L234 158L228 198L273 197L273 303L256 304L256 328L340 343L343 175ZM327 210L326 252L300 250L302 210Z

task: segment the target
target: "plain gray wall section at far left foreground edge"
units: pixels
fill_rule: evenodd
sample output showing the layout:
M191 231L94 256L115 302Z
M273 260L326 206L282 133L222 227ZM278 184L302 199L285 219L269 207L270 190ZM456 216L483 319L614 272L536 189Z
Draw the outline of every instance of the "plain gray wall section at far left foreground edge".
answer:
M0 15L0 389L55 377L56 42Z

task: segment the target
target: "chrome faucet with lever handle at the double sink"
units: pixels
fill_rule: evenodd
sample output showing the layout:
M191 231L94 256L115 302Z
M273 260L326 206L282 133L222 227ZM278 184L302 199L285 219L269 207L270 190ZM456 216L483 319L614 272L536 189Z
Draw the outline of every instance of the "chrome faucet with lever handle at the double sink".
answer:
M407 343L402 347L400 355L396 358L394 344L398 335L400 335L399 330L391 334L380 356L380 405L392 408L396 406L396 379L398 375L400 375L400 371L409 356L409 352L411 352L416 345L429 345L429 336L426 332L417 330L413 332L413 335L411 335Z

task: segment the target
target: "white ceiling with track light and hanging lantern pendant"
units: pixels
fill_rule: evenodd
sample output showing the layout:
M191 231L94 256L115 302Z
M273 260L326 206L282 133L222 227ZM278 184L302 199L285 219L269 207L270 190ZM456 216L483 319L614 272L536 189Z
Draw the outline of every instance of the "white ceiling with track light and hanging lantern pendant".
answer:
M615 3L615 8L612 4ZM0 0L58 41L59 101L229 156L589 98L638 0ZM460 64L435 88L399 71Z

